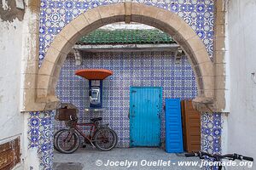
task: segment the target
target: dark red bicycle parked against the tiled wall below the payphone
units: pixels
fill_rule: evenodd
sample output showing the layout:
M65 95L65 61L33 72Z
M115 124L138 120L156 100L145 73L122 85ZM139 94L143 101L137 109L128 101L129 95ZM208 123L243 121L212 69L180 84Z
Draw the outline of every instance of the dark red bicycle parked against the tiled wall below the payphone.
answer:
M79 149L81 143L80 136L84 139L85 144L91 144L94 148L107 151L112 150L117 142L117 134L108 127L108 124L99 125L102 117L91 118L88 123L78 123L78 118L69 116L66 125L69 128L64 128L57 131L54 135L55 150L71 154ZM90 127L89 134L86 135L79 127Z

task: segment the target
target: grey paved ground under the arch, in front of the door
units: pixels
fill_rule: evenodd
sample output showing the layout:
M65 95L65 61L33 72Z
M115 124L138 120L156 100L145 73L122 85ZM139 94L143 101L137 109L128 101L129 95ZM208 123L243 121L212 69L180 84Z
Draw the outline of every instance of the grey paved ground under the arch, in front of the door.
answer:
M112 161L110 166L108 161ZM121 162L122 161L122 162ZM128 161L130 163L128 163ZM153 161L156 164L153 166ZM164 166L166 161L166 166ZM171 161L170 166L167 166ZM177 161L199 161L198 158L186 158L183 154L168 154L160 148L127 148L99 151L96 149L79 149L73 154L60 154L55 151L55 170L123 170L123 169L177 169L194 170L200 167L179 167ZM113 163L119 166L113 166ZM147 164L152 166L143 166ZM96 166L98 164L98 166ZM123 166L120 166L123 164ZM129 167L129 165L131 165ZM162 166L161 166L162 165ZM129 168L128 168L129 167Z

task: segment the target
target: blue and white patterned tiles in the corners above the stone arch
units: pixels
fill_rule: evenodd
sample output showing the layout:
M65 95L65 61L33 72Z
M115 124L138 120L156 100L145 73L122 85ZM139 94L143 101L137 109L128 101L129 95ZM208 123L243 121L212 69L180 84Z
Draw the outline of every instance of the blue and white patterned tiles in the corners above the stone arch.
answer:
M125 0L41 0L39 64L43 62L55 35L79 14L97 6L123 2ZM132 2L165 8L180 16L201 37L212 59L214 0L133 0Z

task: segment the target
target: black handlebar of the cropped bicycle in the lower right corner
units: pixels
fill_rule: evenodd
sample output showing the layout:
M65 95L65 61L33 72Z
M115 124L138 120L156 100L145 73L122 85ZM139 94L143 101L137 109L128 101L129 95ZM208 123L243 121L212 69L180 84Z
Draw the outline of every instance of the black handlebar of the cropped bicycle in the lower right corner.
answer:
M195 152L195 153L187 153L185 154L186 157L191 157L191 156L198 156L200 157L201 159L204 159L203 156L209 156L209 157L212 157L212 158L215 158L216 160L220 160L220 159L224 159L224 158L230 158L232 159L233 161L235 160L247 160L247 161L253 161L253 157L248 157L248 156L241 156L241 155L238 155L238 154L227 154L227 155L211 155L211 154L208 154L207 152L202 152L202 151L198 151L198 152Z

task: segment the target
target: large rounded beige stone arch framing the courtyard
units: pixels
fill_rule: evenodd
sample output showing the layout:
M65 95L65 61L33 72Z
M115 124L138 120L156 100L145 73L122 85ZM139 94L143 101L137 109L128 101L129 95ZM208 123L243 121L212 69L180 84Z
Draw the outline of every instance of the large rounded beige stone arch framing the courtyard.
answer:
M214 66L205 45L195 31L177 14L142 3L115 3L100 6L80 14L65 26L51 43L42 66L38 70L35 111L55 110L59 99L55 96L61 66L73 44L90 31L114 22L138 22L154 26L168 33L189 56L195 71L198 97L194 106L199 111L214 111Z

